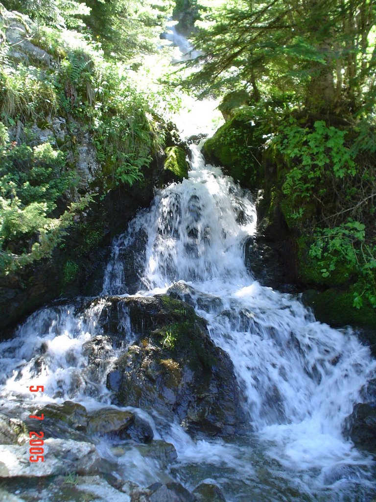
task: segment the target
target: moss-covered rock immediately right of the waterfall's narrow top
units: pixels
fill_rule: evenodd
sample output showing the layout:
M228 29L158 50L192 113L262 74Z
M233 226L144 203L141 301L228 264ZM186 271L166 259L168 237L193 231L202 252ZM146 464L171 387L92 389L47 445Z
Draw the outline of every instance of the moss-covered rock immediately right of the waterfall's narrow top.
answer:
M208 162L223 166L242 186L254 189L263 180L263 142L251 111L242 109L205 142L203 154Z

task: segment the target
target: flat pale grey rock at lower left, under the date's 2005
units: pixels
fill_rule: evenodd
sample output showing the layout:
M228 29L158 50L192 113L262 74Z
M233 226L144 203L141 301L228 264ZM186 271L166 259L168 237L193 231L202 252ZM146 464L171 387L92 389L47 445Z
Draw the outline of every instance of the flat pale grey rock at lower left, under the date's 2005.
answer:
M94 445L72 439L46 439L44 462L32 463L29 456L29 444L0 445L0 476L43 477L62 472L92 474L98 470L100 461Z

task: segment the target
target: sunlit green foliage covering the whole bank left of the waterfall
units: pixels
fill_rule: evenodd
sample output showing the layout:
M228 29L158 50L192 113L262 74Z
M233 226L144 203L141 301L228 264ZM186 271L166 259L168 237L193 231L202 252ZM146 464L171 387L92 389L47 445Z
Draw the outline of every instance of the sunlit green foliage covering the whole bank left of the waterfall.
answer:
M120 45L113 57L125 53L136 56L141 46L145 51L156 50L153 37L159 28L154 21L165 19L167 4L162 2L160 9L154 6L148 12L149 4L141 7L126 0L103 3L106 9L113 9L111 16L119 11L116 23L120 38L115 37L113 43ZM47 51L53 64L38 59L35 65L39 66L20 63L7 41L0 51L1 274L17 272L35 260L51 257L57 245L64 245L68 227L80 225L79 214L92 200L93 191L100 190L104 197L116 185L130 186L141 180L142 170L163 140L163 121L150 104L160 96L137 88L140 77L130 70L129 62L109 62L101 49L101 37L93 40L85 30L67 29L82 25L80 19L89 14L83 2L7 0L5 7L38 20L33 24L20 16L26 30L20 33L28 43L32 41ZM128 15L134 15L134 19ZM115 18L101 18L101 22L113 33L111 23ZM125 38L128 45L122 46ZM56 116L66 119L63 134L52 127ZM51 143L42 143L37 124L48 131ZM75 163L78 142L86 135L96 147L102 177L97 174L91 195L83 196ZM102 237L101 232L83 232L80 253L90 252ZM74 263L67 262L65 279L74 273Z

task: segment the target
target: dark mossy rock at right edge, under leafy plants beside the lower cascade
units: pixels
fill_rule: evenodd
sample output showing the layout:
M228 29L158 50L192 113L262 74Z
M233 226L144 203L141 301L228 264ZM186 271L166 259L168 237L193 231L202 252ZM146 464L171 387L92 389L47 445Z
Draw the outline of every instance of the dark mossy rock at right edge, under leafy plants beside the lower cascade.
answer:
M363 305L360 309L352 306L354 297L352 291L341 291L329 288L319 292L308 290L303 293L303 303L311 307L316 319L334 328L346 325L369 328L369 342L376 342L376 311L371 306Z

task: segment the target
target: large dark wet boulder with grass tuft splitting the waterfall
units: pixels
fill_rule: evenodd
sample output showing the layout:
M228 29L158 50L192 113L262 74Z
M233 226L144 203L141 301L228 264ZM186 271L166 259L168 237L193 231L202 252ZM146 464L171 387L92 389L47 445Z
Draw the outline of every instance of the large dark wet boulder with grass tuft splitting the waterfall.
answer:
M114 301L126 303L137 337L107 375L117 404L175 415L191 431L244 425L233 364L190 305L165 295Z

